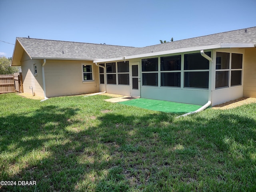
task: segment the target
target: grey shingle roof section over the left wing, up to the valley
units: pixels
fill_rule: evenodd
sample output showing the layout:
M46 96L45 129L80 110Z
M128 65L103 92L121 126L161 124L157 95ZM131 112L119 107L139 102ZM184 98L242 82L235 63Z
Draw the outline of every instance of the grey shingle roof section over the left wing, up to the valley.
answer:
M132 55L138 48L33 38L17 38L32 58L100 59ZM63 54L64 53L64 54Z

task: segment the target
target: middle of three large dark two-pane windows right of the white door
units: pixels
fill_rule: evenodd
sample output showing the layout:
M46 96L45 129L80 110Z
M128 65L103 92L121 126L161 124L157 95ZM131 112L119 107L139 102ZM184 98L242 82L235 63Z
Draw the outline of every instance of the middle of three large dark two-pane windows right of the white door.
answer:
M161 86L180 87L181 55L160 57L160 70Z

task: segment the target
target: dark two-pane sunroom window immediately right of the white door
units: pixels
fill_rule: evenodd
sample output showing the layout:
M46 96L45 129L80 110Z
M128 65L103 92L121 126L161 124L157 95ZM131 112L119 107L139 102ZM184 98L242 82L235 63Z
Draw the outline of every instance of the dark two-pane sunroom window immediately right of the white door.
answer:
M158 58L142 59L142 85L158 86Z

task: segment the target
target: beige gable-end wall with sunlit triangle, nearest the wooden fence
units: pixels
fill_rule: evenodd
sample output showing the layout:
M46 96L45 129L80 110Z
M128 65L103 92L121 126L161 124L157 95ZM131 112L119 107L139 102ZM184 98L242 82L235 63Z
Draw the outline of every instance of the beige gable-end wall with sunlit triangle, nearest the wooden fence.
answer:
M34 64L37 66L37 75L34 75ZM23 91L32 95L32 89L36 96L44 97L42 80L42 60L31 60L26 52L21 59Z

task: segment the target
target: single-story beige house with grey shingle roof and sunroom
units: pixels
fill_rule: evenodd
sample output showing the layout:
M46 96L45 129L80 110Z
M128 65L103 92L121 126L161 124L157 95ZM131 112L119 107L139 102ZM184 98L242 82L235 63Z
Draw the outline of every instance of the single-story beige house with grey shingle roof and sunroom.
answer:
M142 48L16 38L24 92L108 92L189 104L256 97L256 27Z

